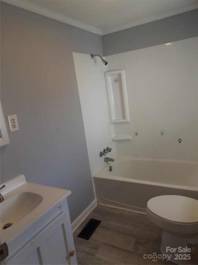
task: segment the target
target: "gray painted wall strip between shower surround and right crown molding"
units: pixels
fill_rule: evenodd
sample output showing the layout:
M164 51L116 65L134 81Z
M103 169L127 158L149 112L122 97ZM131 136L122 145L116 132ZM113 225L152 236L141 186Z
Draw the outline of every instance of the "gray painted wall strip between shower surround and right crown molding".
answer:
M104 56L198 36L198 9L102 36Z

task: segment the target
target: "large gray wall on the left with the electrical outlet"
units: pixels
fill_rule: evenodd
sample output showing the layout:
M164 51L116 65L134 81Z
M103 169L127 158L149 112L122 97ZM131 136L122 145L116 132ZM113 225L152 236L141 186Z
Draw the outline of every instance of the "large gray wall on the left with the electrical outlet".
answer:
M94 199L73 51L102 54L101 36L1 2L1 103L19 122L1 183L24 174L71 190L71 222Z

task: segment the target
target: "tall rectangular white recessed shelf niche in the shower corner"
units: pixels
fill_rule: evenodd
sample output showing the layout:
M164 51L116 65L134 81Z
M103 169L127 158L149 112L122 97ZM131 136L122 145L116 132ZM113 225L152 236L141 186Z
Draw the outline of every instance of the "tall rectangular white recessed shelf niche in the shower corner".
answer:
M110 122L129 121L125 70L105 73Z

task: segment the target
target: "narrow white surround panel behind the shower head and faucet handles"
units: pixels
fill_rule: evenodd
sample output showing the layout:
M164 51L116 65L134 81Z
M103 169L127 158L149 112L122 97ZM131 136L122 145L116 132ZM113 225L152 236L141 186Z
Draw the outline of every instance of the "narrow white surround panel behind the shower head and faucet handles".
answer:
M92 176L105 166L99 153L111 147L109 116L102 62L90 54L73 53ZM105 67L105 66L104 66ZM113 157L113 150L106 155Z

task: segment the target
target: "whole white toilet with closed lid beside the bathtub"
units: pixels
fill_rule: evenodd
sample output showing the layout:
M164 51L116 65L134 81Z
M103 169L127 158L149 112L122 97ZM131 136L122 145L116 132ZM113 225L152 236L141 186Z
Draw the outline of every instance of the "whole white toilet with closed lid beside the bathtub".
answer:
M189 244L198 244L198 200L178 195L157 196L148 201L146 214L163 230L161 254L171 254L170 261L175 264L188 264Z

